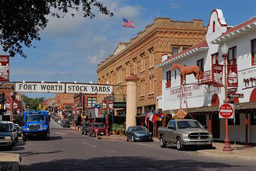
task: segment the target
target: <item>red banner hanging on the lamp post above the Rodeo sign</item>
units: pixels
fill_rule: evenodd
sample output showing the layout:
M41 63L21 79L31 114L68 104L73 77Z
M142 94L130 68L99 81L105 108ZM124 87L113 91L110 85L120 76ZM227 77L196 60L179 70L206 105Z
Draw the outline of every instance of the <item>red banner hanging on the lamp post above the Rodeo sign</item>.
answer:
M227 65L227 86L238 87L237 65Z

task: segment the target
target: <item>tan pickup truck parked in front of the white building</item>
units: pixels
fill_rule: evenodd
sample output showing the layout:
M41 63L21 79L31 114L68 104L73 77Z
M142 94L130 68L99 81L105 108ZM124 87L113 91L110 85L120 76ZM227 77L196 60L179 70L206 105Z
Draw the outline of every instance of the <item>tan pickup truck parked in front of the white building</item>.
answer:
M159 127L157 132L161 148L166 147L166 143L174 143L178 151L185 146L203 145L212 147L212 134L207 131L207 126L203 126L197 120L177 119L170 120L167 127Z

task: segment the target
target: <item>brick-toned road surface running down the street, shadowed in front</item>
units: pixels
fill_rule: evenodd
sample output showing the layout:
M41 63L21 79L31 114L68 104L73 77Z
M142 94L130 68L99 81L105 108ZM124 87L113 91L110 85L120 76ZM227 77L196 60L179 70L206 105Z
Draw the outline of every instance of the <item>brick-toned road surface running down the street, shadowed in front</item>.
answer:
M256 163L210 158L155 142L103 140L51 121L48 141L18 142L21 170L256 170Z

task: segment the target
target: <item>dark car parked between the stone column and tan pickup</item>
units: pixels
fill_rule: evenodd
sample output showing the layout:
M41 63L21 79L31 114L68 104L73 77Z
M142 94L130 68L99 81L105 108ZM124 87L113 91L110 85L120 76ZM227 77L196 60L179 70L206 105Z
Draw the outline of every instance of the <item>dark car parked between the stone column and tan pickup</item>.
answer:
M152 133L144 126L130 126L125 132L125 140L129 141L153 141Z

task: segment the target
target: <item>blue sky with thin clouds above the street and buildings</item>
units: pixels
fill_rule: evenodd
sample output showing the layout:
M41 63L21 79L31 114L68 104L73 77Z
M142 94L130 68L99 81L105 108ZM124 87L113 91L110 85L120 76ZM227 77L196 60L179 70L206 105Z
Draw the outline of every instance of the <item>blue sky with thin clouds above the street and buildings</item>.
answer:
M122 17L132 20L135 29L124 28L124 41L129 42L157 17L172 20L203 19L208 24L213 9L221 9L229 26L256 17L254 1L151 1L104 0L113 17L104 16L97 9L95 19L83 18L75 12L57 19L49 16L49 23L40 32L42 40L33 42L37 48L25 49L28 58L16 56L10 60L10 81L75 81L97 82L97 64L122 41ZM0 46L0 54L4 53ZM29 97L54 97L51 93L26 93Z

